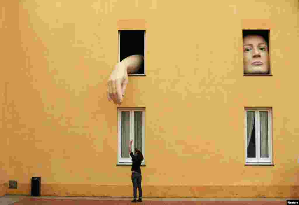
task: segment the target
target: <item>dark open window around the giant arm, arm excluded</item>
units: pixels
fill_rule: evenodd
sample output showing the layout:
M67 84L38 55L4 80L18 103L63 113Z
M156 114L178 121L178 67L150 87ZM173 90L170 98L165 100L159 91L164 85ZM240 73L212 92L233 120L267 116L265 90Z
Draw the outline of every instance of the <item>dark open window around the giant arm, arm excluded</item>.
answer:
M132 55L144 56L145 30L119 30L118 41L118 62ZM137 73L129 75L145 75L144 63Z

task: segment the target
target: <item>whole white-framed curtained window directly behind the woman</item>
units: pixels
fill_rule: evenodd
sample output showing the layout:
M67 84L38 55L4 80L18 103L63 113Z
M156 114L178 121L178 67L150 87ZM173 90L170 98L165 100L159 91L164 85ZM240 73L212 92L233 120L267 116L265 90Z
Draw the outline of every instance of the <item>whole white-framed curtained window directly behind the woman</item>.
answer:
M118 108L118 164L132 164L129 143L133 140L132 152L140 149L144 156L145 108ZM145 158L145 156L144 156ZM141 164L144 164L144 160Z

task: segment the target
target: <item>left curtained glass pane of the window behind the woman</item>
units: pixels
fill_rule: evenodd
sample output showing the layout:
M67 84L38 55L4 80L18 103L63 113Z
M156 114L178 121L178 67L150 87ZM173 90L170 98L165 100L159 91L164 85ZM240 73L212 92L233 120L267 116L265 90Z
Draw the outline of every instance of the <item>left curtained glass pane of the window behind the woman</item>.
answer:
M121 112L121 157L129 158L130 112Z

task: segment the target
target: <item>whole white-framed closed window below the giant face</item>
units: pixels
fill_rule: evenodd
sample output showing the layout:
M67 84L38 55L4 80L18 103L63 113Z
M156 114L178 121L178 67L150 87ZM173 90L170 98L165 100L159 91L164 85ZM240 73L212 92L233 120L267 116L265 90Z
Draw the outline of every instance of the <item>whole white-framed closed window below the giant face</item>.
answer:
M271 108L245 108L245 162L272 164Z

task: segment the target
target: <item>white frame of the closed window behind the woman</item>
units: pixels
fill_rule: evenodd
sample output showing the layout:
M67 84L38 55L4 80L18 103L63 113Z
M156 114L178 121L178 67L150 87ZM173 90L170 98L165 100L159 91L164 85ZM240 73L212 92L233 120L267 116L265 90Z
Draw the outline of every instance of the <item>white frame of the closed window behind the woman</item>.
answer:
M132 143L132 152L134 153L134 112L142 112L142 155L145 158L145 149L144 149L144 139L145 139L145 108L123 108L118 107L118 165L132 165L132 158L122 158L121 157L121 112L130 112L130 140L133 140ZM129 150L126 150L129 152ZM141 162L141 165L145 165L145 161Z

